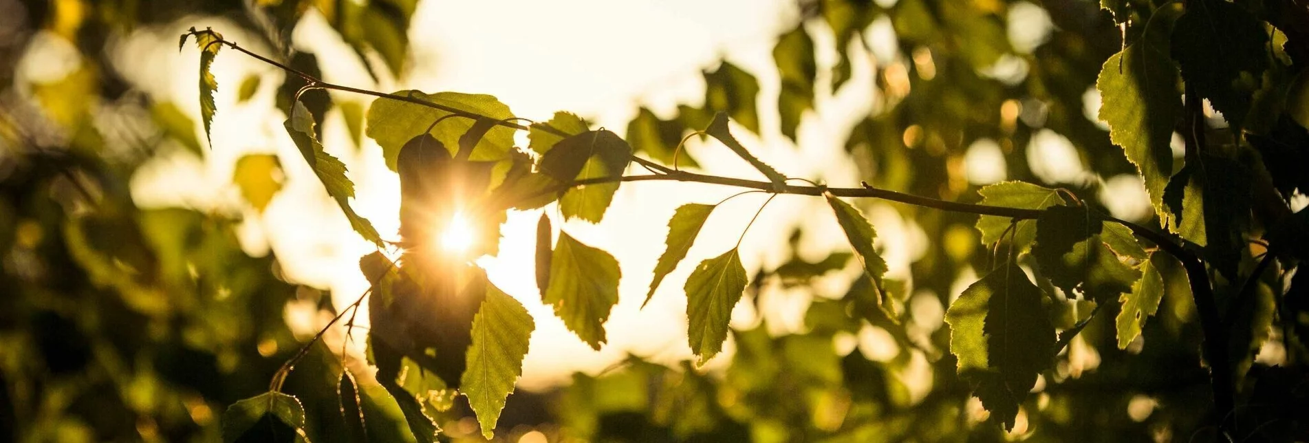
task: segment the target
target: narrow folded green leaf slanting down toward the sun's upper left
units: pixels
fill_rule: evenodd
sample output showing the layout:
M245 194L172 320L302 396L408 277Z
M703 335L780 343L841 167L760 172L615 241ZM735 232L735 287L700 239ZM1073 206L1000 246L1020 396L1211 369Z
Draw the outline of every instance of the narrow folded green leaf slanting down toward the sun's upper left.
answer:
M300 148L300 153L309 163L309 168L314 170L314 174L322 181L323 187L327 189L327 195L331 195L336 201L336 204L340 206L342 212L346 214L350 227L364 237L364 240L372 241L378 248L386 248L373 224L350 207L350 198L355 197L355 183L346 177L346 164L323 151L322 143L318 143L318 139L314 136L314 119L309 115L309 110L300 102L296 102L296 107L291 113L291 119L287 119L283 126L287 127L291 139L296 142L296 147Z

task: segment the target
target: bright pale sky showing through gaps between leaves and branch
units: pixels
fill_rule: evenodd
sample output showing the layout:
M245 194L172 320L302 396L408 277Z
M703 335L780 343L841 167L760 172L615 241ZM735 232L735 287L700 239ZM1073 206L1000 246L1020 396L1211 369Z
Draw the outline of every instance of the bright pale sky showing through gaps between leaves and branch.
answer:
M766 134L761 139L738 131L754 153L792 177L823 180L833 186L857 183L857 172L847 161L842 149L844 140L839 136L867 114L872 102L873 56L855 56L855 79L840 96L831 97L822 69L834 59L834 54L829 54L830 37L825 30L814 33L817 46L822 48L819 111L805 115L800 131L800 144L805 149L796 149L776 130L772 97L776 97L778 79L770 55L774 38L795 24L796 12L792 8L793 3L787 0L569 0L548 5L539 1L428 0L420 3L410 31L411 72L406 79L380 87L372 84L353 52L322 17L306 17L293 41L323 60L327 81L380 90L415 88L490 93L520 117L545 121L556 110L571 110L619 134L624 132L628 118L639 105L649 106L664 117L670 117L678 102L698 105L704 88L699 71L713 67L719 56L726 55L757 73L763 89L759 115ZM199 121L195 89L198 55L191 48L178 54L175 47L177 35L188 26L212 26L253 51L270 50L253 45L255 38L241 35L229 22L212 18L186 20L166 29L139 31L118 42L123 55L120 68L136 80L137 87L158 97L173 97ZM888 29L884 21L881 28L870 30L882 60L895 56L893 41L888 41L894 34L888 37ZM1037 39L1041 38L1043 33L1037 35ZM144 207L182 204L243 211L247 222L241 235L247 252L263 254L271 249L281 260L288 278L331 288L338 307L348 304L368 286L357 270L357 260L372 246L350 229L313 173L298 161L298 152L285 136L281 128L284 117L272 105L281 72L234 51L220 54L213 72L220 84L213 149L206 160L187 155L157 160L134 177L134 197ZM237 104L236 88L250 73L262 75L260 90L250 102ZM339 94L334 98L368 104L367 97ZM356 183L357 198L352 204L373 222L384 237L394 239L399 185L395 174L384 165L380 148L365 139L364 148L355 151L339 111L329 114L323 125L327 151L348 164L350 177ZM1054 149L1049 155L1056 160L1072 149L1067 139L1060 143L1056 134L1051 132L1047 138L1052 140L1052 148L1045 151ZM1004 163L995 143L979 145L977 153L970 152L970 161L990 163L992 168L970 166L970 180L991 182L1004 178L1003 173L999 177L995 174L995 169L1003 172ZM692 140L687 148L702 165L708 165L706 170L709 173L736 177L758 174L716 143ZM1045 151L1041 155L1046 155ZM253 152L279 153L287 173L285 187L262 216L242 210L240 194L230 183L236 159ZM1072 161L1075 164L1045 163L1051 164L1047 170L1051 176L1084 174L1076 156ZM1139 189L1139 181L1135 185ZM537 320L521 385L539 388L567 380L572 371L596 372L627 353L665 363L689 358L686 298L682 294L685 279L694 263L719 256L736 244L764 197L746 195L721 206L682 266L664 280L645 309L640 309L640 304L654 261L664 250L666 223L673 210L689 202L715 203L736 191L694 183L626 183L603 223L589 225L573 222L564 225L579 240L614 254L622 266L620 300L607 324L609 345L601 351L590 350L572 336L551 308L541 303L533 270L535 222L541 211L512 212L503 225L500 256L479 263L496 286L521 300ZM552 207L548 210L552 211ZM780 265L785 258L784 239L800 224L806 229L800 253L808 260L848 248L827 214L830 210L821 199L776 198L741 244L742 262L749 274L753 275L759 266ZM881 235L878 246L891 266L890 277L906 278L908 262L925 248L922 231L888 206L873 206L865 214ZM560 224L556 218L556 229ZM843 282L856 275L857 269L851 266L846 271L830 278L830 282L821 282L816 292L819 296L843 294ZM924 299L931 301L923 303L935 305L911 300L911 308L935 316L923 321L939 328L940 304L935 298ZM778 290L764 301L763 316L776 332L802 329L808 295ZM749 326L757 318L749 303L742 303L733 312L736 326ZM709 366L726 363L725 355L730 354L730 349L729 342L728 353Z

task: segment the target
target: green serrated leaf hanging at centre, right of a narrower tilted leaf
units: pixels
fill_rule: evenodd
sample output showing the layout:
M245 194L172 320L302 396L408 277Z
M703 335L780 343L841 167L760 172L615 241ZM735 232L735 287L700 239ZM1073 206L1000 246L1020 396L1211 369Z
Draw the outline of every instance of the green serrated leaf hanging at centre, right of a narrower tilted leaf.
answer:
M723 350L732 308L745 294L745 267L736 248L700 262L687 277L687 338L699 364Z

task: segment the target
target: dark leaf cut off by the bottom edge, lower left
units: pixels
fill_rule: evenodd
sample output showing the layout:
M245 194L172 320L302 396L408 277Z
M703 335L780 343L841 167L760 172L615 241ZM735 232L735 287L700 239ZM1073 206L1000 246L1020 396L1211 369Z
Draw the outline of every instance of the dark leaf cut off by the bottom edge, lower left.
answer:
M280 392L237 401L223 413L223 442L308 442L305 408Z

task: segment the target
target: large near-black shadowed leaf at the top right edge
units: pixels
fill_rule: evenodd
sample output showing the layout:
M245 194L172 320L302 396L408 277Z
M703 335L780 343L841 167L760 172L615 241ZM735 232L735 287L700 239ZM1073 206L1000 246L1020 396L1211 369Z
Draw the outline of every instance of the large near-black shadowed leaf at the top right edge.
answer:
M1250 97L1268 68L1268 50L1263 22L1230 1L1189 1L1173 28L1172 54L1182 79L1234 128L1250 111Z

